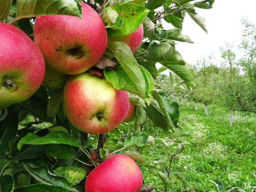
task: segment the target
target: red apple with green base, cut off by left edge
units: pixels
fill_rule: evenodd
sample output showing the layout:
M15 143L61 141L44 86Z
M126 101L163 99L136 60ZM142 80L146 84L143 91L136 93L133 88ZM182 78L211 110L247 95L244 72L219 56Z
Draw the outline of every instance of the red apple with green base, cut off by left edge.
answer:
M45 73L44 56L15 26L0 23L0 109L29 99Z

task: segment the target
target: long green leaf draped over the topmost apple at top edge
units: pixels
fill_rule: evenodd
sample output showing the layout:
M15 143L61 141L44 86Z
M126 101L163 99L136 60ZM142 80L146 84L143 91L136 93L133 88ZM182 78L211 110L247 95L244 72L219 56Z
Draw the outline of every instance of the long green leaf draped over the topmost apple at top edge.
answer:
M72 15L82 18L82 6L78 0L17 0L15 21L44 15Z

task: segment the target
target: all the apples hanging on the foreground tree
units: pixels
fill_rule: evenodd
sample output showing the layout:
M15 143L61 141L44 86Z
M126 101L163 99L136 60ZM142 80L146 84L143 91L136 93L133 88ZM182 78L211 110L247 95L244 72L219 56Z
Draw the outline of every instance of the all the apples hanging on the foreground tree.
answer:
M125 37L108 37L99 14L85 3L82 19L68 15L36 17L34 41L15 26L0 23L0 109L29 99L40 86L64 87L63 108L70 122L88 134L102 134L135 118L128 92L116 90L102 71L88 72L108 44L122 41L136 52L143 25ZM100 74L100 75L99 75ZM119 175L120 177L116 177ZM130 157L105 160L87 177L86 192L139 192L142 175Z

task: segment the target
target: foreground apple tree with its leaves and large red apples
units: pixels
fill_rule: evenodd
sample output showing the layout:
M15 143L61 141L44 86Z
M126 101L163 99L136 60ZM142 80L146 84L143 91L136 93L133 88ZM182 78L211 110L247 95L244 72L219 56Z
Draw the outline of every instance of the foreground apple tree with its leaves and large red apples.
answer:
M194 43L185 15L207 32L195 8L214 1L0 0L0 191L152 191L140 168L154 144L169 157L155 162L160 190L171 177L188 188L171 166L190 143L165 142L180 138L180 112L155 89L155 65L195 86L175 44ZM123 122L134 113L134 126Z

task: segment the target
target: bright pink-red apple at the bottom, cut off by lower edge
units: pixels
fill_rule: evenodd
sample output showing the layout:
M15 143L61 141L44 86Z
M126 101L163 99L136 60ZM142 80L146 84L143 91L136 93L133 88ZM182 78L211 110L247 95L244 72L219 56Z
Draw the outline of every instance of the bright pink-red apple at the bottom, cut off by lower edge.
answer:
M117 154L89 173L85 181L85 191L140 192L142 184L139 166L130 157Z

